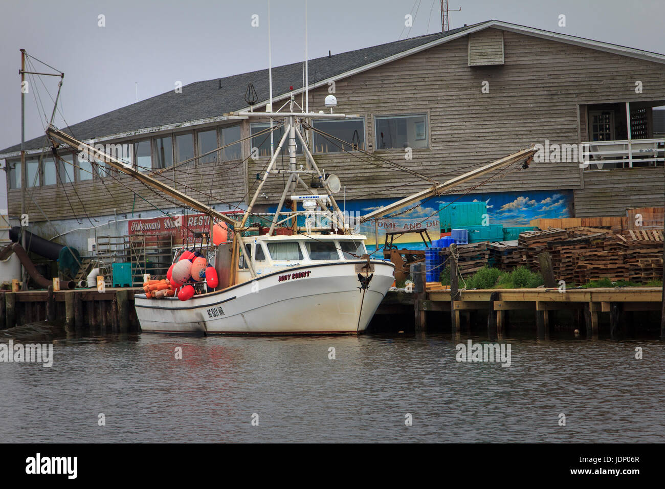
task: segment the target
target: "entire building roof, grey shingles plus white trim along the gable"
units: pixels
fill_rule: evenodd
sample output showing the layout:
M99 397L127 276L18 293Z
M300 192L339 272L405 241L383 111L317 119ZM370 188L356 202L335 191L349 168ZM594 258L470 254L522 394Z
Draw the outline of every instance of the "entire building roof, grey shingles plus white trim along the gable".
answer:
M402 41L381 44L378 46L356 49L331 57L321 57L309 61L309 86L326 79L334 79L340 75L348 74L354 70L368 67L372 63L390 61L409 51L427 49L428 45L438 45L450 39L495 27L526 35L534 35L546 39L555 39L563 43L570 43L617 53L624 56L636 57L665 64L665 56L640 49L623 47L601 41L593 41L582 37L565 35L543 29L535 29L503 21L485 21L444 33L428 34L412 37ZM368 67L369 68L369 67ZM273 68L273 96L287 94L289 86L294 90L303 88L303 62L292 63ZM245 108L245 91L247 84L252 83L257 91L259 102L268 98L268 70L252 71L221 79L206 80L190 83L182 87L182 93L176 94L174 90L141 100L100 116L93 117L78 124L72 125L71 134L80 140L99 139L114 134L138 131L147 128L156 128L169 124L182 124L190 121L199 121L206 118L218 118L225 112ZM221 84L221 88L219 88ZM66 130L66 129L65 129ZM39 150L45 144L45 136L25 142L26 150ZM0 150L0 158L21 150L20 144L15 144Z

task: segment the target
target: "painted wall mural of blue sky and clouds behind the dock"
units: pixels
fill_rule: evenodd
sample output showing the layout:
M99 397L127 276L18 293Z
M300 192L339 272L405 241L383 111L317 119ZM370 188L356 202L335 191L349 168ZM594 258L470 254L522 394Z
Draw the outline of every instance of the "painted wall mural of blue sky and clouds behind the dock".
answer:
M346 212L351 216L364 215L394 202L392 199L356 200L346 202ZM429 198L408 212L383 219L378 224L378 242L382 245L386 232L425 228L432 240L439 238L439 207L447 202L486 202L489 224L502 224L504 227L529 226L529 222L539 218L573 217L573 191L525 191L497 192L489 194L446 195ZM411 207L417 204L412 204ZM394 212L399 214L401 211ZM481 223L478 223L481 224ZM360 226L360 234L367 236L368 251L375 248L375 228L373 223ZM424 244L416 234L407 234L395 240L411 249L422 249ZM419 242L420 241L420 242Z

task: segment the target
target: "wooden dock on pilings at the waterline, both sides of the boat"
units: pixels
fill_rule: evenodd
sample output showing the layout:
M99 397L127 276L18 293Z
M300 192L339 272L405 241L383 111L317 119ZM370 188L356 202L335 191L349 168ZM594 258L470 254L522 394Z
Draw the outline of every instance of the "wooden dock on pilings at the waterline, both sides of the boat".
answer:
M389 291L377 314L414 313L416 331L435 326L432 312L448 313L436 327L459 331L462 320L469 324L471 314L487 315L487 326L501 334L511 311L533 311L533 323L539 335L545 335L556 311L570 311L573 323L586 336L597 338L600 319L608 317L610 335L616 336L632 311L660 311L660 287L624 287L602 289L488 289L462 290L452 300L450 287L427 283L421 292ZM134 311L134 293L142 289L108 288L72 291L0 291L0 329L34 321L59 321L68 333L124 333L140 331ZM522 313L523 315L523 313ZM604 315L604 317L603 317ZM655 326L655 325L654 325Z

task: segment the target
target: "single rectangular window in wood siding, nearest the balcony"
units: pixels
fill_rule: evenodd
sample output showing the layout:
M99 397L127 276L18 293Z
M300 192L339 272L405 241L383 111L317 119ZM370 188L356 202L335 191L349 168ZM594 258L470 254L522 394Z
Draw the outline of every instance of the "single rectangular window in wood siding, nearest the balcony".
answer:
M427 114L376 116L376 149L427 148Z

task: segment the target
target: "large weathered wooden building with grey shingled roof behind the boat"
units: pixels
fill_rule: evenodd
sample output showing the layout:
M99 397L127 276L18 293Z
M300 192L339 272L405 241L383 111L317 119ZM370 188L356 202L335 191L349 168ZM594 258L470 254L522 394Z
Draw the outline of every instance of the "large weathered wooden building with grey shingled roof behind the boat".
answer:
M429 184L344 150L358 147L444 181L531 144L571 145L563 151L567 158L543 152L544 161L487 182L473 191L474 198L494 202L497 219L513 219L515 213L523 219L622 216L626 208L664 203L664 139L654 127L660 120L654 107L665 105L664 68L665 55L502 21L312 59L310 110L327 110L325 96L334 90L335 111L358 117L315 120L315 127L346 143L311 134L311 150L320 168L340 177L346 207L363 210ZM279 108L291 93L300 102L302 80L303 63L273 68L273 106ZM164 182L175 180L178 190L196 198L200 190L206 195L201 200L229 210L246 205L269 159L269 140L250 137L267 121L223 115L249 110L250 83L257 93L253 110L265 110L268 72L261 70L188 84L182 93L172 90L69 130L96 144L129 144L132 163L142 171L160 170ZM128 176L76 162L72 152L61 156L78 168L57 164L48 148L42 154L44 144L44 136L25 144L25 207L31 231L45 238L61 234L63 244L85 247L96 231L87 220L80 224L84 216L100 228L113 221L114 231L126 234L132 218L159 216L155 206L182 212ZM591 154L590 161L581 164L571 153L577 145ZM411 148L412 159L405 159L405 148ZM15 224L21 214L19 149L17 144L0 150ZM299 162L305 163L301 150ZM277 204L280 186L281 179L269 180L263 209ZM533 212L520 214L524 209ZM72 231L78 228L85 229Z

